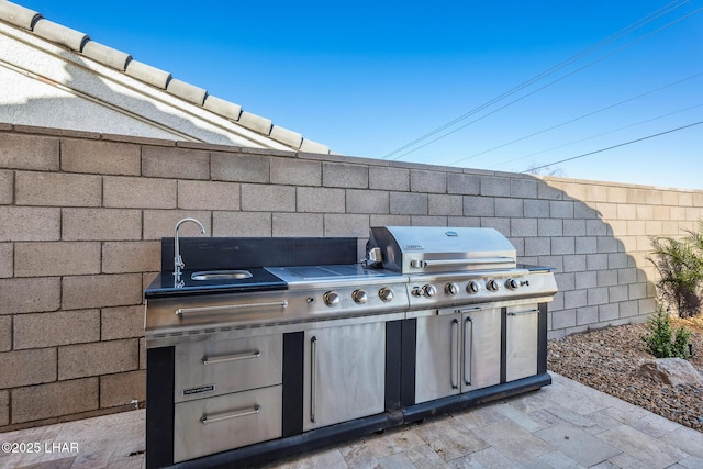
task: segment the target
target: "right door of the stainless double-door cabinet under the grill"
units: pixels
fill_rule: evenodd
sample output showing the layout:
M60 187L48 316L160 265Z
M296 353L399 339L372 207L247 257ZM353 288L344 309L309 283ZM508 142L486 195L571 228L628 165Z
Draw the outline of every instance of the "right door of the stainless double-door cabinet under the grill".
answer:
M464 312L464 311L462 311ZM461 316L461 392L501 382L501 310L468 309Z

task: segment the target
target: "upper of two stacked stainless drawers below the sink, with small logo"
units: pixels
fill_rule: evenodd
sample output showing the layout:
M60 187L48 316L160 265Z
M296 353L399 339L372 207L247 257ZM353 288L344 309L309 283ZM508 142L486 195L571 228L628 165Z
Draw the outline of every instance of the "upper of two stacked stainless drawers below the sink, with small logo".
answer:
M176 345L175 402L282 382L283 335Z

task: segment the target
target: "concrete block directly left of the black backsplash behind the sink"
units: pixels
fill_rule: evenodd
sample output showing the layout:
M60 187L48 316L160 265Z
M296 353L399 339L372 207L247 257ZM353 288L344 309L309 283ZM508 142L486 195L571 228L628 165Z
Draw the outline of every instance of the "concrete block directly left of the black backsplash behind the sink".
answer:
M102 245L104 273L153 272L161 268L159 242L105 242Z

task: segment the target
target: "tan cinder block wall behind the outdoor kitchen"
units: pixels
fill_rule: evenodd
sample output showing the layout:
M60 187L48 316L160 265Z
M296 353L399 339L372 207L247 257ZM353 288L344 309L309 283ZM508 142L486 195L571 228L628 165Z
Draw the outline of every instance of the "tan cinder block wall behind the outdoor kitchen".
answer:
M143 289L185 216L209 236L495 227L557 268L555 337L644 321L648 236L702 215L701 191L0 124L0 431L143 403Z

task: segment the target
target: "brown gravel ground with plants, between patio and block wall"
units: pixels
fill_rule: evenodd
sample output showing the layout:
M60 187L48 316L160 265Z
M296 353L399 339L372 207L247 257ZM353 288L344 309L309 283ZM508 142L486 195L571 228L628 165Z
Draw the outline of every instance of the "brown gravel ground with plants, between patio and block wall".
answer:
M672 317L693 331L690 362L703 376L703 315ZM549 340L548 368L561 376L631 402L703 433L703 384L672 387L637 376L645 351L645 324L606 327Z

